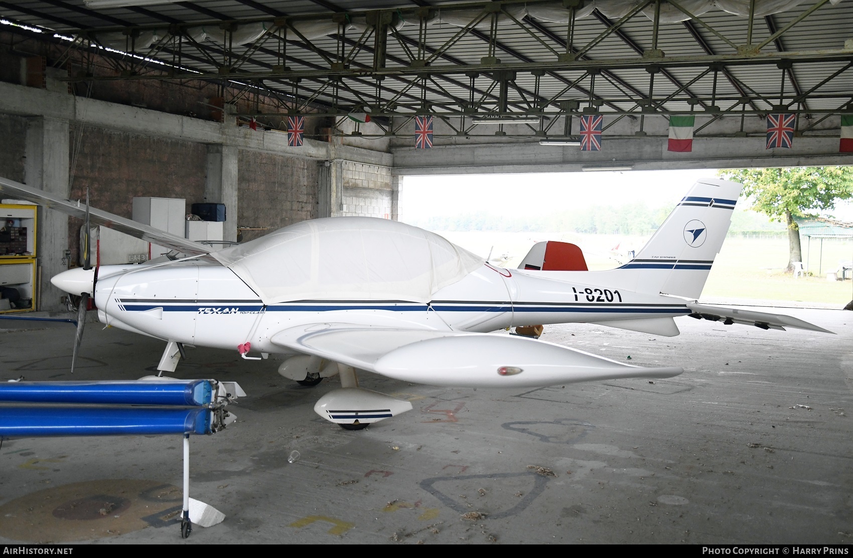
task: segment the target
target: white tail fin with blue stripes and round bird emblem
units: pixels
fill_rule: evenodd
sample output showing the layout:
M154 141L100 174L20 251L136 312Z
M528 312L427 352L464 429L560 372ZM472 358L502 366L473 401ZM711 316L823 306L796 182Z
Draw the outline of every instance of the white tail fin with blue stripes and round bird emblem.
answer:
M742 188L717 178L696 182L635 259L613 272L636 270L635 291L698 298Z

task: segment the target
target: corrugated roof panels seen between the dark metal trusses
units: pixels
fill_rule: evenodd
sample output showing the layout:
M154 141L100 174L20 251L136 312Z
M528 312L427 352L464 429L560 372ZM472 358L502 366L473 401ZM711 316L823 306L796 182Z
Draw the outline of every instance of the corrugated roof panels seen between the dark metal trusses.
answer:
M39 14L44 14L44 18L32 14L24 14L15 12L14 10L3 9L0 13L14 17L15 20L36 24L40 26L49 26L58 30L66 30L67 23L56 23L55 19L67 20L75 22L78 26L84 27L115 27L119 24L164 24L170 20L181 20L189 23L216 20L217 17L231 18L258 18L267 15L268 11L285 14L318 14L331 13L328 10L315 2L308 0L258 0L270 10L256 9L252 6L240 3L235 0L199 0L194 3L196 9L189 8L187 4L167 3L156 6L147 6L143 9L97 9L90 10L87 13L81 14L73 9L56 8L48 3L40 0L23 0L17 3L21 9L34 10ZM83 0L69 0L70 6L84 7ZM413 4L409 2L399 2L397 0L339 0L336 5L340 9L345 10L362 10L362 9L382 9L388 7L403 7L412 8ZM809 9L808 4L799 6L796 9L789 10L782 14L775 14L773 20L777 29L782 28L787 22L794 20L798 14L804 13L804 10ZM100 15L98 15L100 14ZM50 18L54 18L51 20ZM746 42L746 18L740 18L732 14L726 14L722 11L709 12L702 16L708 25L713 26L722 36L727 37L734 44L742 44ZM757 18L756 25L753 31L753 43L759 43L766 40L769 35L767 23L763 18ZM525 29L519 28L516 25L500 26L497 33L497 48L496 56L504 62L518 62L520 60L537 60L548 61L555 59L554 51L560 53L564 51L564 47L560 44L566 36L566 26L554 23L538 22L537 26L541 26L559 40L554 40L552 37L539 34L544 43L547 43L551 49L544 46L536 38L531 37L530 33ZM713 52L720 55L734 54L734 48L723 41L720 37L715 36L712 32L705 29L698 22L693 22L692 26L696 29L699 36L707 43ZM528 29L532 26L527 25ZM781 37L781 43L787 51L806 50L806 49L838 49L843 46L844 40L850 38L850 28L853 28L853 5L850 3L841 3L835 7L825 7L815 14L809 16L808 19L798 23L791 31L786 32ZM606 23L590 16L583 20L577 21L577 28L573 41L573 46L581 48L590 41L598 37L601 32L605 31ZM593 49L589 49L588 55L591 60L641 60L641 55L636 49L632 48L629 43L634 43L640 50L650 49L652 46L652 30L653 22L648 20L644 15L638 14L634 19L627 22L621 28L621 33L627 37L628 42L618 35L605 37L600 43L596 44ZM416 46L409 44L416 41L417 26L406 26L401 30L403 36L409 39L407 47L409 50L415 50ZM427 44L431 49L439 49L444 46L444 43L460 31L459 27L450 26L449 24L429 26L427 32ZM683 23L662 24L659 29L658 48L663 49L667 58L663 60L649 60L649 63L665 64L667 60L678 56L690 55L705 55L705 50L701 48L694 37L688 31L687 26ZM461 37L455 44L448 49L445 56L439 56L434 61L435 66L445 66L461 62L462 64L473 65L479 64L480 59L489 54L488 41L485 40L487 32L478 32L479 37L472 34ZM346 37L350 41L356 40L359 33L347 33ZM289 37L293 40L293 36ZM337 42L333 37L321 37L312 41L317 49L322 50L329 58L334 58L334 53L337 48ZM371 44L372 46L372 44ZM206 60L206 56L195 49L189 43L183 44L183 49L186 55L192 55L196 60L192 61L185 58L185 61L191 66L199 69L213 70L215 64ZM218 60L221 48L217 44L208 44L206 46L214 58ZM236 57L240 57L247 52L248 47L240 47L235 49ZM279 63L276 57L276 43L270 42L265 45L264 49L252 55L252 60L247 61L241 66L241 69L246 71L261 71L270 66ZM553 49L553 50L552 50ZM770 43L765 47L764 52L774 52L775 44ZM347 46L346 53L351 52L351 46ZM388 37L387 41L388 60L386 66L389 68L408 66L409 54L403 48L396 38ZM514 54L510 54L510 52ZM287 66L294 69L307 68L324 68L328 66L328 62L322 55L313 52L310 49L299 47L298 44L287 45ZM432 55L427 53L427 57ZM351 60L352 67L368 68L372 65L373 54L369 49L363 49L357 53ZM218 65L218 62L217 62ZM821 79L825 78L831 72L841 67L838 62L804 64L795 63L794 74L798 81L798 86L801 90L809 89ZM668 70L672 79L666 78L663 74L658 74L654 84L654 98L656 100L663 99L666 95L670 95L676 91L678 83L688 83L699 72L698 68L670 68ZM778 89L780 83L780 70L773 66L730 66L729 72L734 78L740 80L746 89L756 91L759 95L765 95L768 98L766 102L758 104L769 106L769 103L778 102ZM566 88L566 83L572 83L578 76L582 75L583 70L579 71L560 71L549 72L543 75L539 83L539 92L541 99L548 99L554 95L560 94L560 99L583 99L585 94L583 90L589 87L589 79L584 78L576 87L563 92ZM459 99L467 100L468 78L464 75L455 75L448 78L435 76L435 81L439 84L430 83L434 91L427 93L427 99L432 102L447 103L458 101ZM386 79L382 82L383 87L395 90L401 90L409 83L411 78L404 79ZM319 80L309 80L313 88L318 88L322 82ZM533 101L532 91L535 89L535 78L527 72L519 72L516 78L516 84L525 89L525 96L528 101ZM675 82L675 83L673 83ZM373 99L374 81L370 78L359 78L353 80L347 78L345 80L347 86L357 91L365 99ZM482 95L482 92L490 86L490 79L480 77L477 79L476 87L480 91L475 95L477 98ZM276 88L287 90L285 85L275 85ZM624 99L626 95L647 95L649 87L649 74L642 68L620 69L612 71L612 77L607 78L605 75L596 79L595 94L606 98L615 106L622 108L630 108L635 103L625 103L617 101ZM438 91L444 89L444 93ZM676 96L676 101L669 101L666 105L670 110L687 110L688 105L683 101L688 95L699 95L707 97L711 95L713 89L713 77L711 75L699 79L696 83L690 85L688 90ZM809 101L809 107L818 109L825 107L838 106L844 101L844 93L853 90L853 72L842 74L838 78L833 79L822 87L818 94L821 98L815 98ZM786 82L786 99L792 98L793 87ZM562 92L562 93L561 93ZM494 92L493 92L494 93ZM774 94L776 101L773 101ZM391 96L390 91L386 91L383 96ZM419 98L420 91L412 89L405 97L409 98L405 102L414 102ZM740 97L740 91L732 83L729 83L728 78L722 74L717 76L717 98L720 100L717 104L723 108L728 107L736 97ZM357 95L347 93L346 96L355 99ZM405 99L403 97L403 99ZM524 101L521 101L520 94L513 89L510 90L511 103L519 106L526 106ZM401 99L402 101L402 99ZM492 102L492 101L490 101ZM710 101L709 101L710 102ZM728 105L726 105L728 103ZM603 107L602 110L608 110Z

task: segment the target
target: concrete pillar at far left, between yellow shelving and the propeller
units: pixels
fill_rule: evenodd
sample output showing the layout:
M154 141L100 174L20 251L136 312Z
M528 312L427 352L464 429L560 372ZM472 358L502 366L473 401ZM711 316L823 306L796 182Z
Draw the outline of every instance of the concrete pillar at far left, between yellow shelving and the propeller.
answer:
M70 130L67 120L57 118L30 118L26 128L26 164L24 181L49 193L68 198L68 153ZM57 311L65 309L61 297L66 293L56 289L50 278L69 267L68 216L59 211L38 207L38 267L41 284L38 309Z

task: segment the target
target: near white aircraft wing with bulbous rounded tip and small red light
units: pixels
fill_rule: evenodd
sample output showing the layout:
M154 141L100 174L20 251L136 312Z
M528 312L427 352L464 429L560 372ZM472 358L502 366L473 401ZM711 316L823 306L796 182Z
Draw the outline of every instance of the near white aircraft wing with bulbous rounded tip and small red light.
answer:
M522 388L629 377L673 377L681 368L641 368L528 337L388 327L310 324L270 338L383 376L440 386Z

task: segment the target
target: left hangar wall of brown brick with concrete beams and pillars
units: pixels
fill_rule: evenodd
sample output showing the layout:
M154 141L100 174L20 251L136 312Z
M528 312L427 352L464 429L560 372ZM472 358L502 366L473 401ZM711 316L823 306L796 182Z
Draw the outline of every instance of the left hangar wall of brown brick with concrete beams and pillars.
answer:
M344 182L368 190L371 214L396 215L386 210L396 200L390 153L336 138L288 147L286 134L241 128L233 119L211 122L50 89L0 81L0 175L63 198L82 198L88 186L93 205L122 216L131 216L131 199L140 195L222 202L229 208L226 239L236 239L238 224L275 229L341 215ZM322 172L324 161L340 172ZM39 309L61 310L65 293L49 279L76 261L80 223L50 210L39 210L39 219Z

